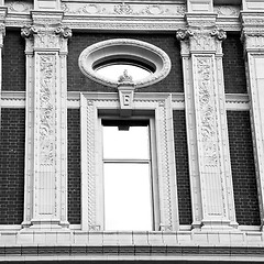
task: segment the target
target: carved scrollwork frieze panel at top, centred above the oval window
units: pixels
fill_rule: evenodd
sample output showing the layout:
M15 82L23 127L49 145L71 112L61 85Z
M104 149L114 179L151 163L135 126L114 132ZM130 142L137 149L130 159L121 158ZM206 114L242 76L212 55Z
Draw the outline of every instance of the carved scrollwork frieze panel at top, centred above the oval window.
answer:
M62 10L66 14L86 15L184 15L185 4L145 4L145 3L70 3L63 2Z

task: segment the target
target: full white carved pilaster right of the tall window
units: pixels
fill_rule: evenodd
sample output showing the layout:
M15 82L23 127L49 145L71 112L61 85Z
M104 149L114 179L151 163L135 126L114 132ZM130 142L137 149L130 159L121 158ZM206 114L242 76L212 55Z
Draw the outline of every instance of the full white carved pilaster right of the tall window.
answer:
M187 14L179 30L193 200L193 227L235 227L226 116L222 47L216 15Z

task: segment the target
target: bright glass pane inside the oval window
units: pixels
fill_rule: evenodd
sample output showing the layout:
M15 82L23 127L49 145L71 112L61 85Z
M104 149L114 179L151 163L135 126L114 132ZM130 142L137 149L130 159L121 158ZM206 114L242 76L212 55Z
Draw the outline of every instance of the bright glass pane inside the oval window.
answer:
M119 77L123 75L125 69L128 70L128 74L132 77L133 81L143 79L151 75L151 72L142 67L129 64L107 65L105 67L98 68L97 73L105 78L118 81Z

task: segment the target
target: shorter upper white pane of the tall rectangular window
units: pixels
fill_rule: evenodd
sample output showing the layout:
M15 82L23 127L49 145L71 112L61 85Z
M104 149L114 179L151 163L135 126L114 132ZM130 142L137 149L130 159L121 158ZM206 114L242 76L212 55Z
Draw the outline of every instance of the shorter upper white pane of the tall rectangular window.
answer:
M103 127L103 158L148 158L148 127Z

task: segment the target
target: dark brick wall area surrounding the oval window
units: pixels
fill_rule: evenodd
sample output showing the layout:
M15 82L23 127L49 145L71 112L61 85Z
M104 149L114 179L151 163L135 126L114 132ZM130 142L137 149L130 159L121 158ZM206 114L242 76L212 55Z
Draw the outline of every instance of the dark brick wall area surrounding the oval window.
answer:
M68 46L68 90L78 91L116 91L114 88L103 87L81 74L78 67L78 57L88 46L111 38L128 37L151 43L161 47L172 61L170 74L161 82L140 91L184 91L183 70L180 59L179 42L175 34L97 34L97 33L74 33Z

